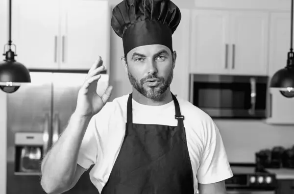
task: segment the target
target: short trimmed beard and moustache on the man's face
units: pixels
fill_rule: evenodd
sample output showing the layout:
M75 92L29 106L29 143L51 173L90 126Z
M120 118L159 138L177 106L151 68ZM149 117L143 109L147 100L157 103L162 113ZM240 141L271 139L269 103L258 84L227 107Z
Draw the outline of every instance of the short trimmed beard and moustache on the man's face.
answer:
M149 74L148 76L146 76L140 80L137 80L129 72L129 70L127 70L127 74L128 74L130 83L140 94L142 94L143 96L145 96L147 98L156 99L156 98L161 97L161 95L163 95L167 91L167 89L170 87L170 85L172 83L172 78L173 78L173 69L169 73L166 80L163 77L157 76L156 74ZM147 89L144 88L143 84L145 83L145 81L148 79L154 79L154 78L159 79L160 84L155 87L148 87Z

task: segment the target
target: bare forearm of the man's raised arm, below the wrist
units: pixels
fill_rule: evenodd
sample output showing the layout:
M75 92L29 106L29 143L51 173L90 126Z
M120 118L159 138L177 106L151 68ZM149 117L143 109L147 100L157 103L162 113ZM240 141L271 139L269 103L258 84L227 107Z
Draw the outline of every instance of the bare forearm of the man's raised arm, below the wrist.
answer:
M54 190L71 184L78 151L90 119L73 113L67 128L43 159L41 184L44 188Z

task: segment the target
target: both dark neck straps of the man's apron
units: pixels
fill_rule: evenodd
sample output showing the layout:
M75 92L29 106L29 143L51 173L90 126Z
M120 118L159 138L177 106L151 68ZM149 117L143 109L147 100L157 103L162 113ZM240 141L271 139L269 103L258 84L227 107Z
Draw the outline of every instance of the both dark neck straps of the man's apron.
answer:
M127 108L126 108L126 122L127 123L133 123L133 106L132 106L132 93L129 94L129 97L127 99ZM184 126L183 120L185 117L181 115L181 110L180 110L180 105L179 102L177 101L176 97L172 94L172 99L174 103L174 108L175 108L175 115L174 118L178 120L178 127Z

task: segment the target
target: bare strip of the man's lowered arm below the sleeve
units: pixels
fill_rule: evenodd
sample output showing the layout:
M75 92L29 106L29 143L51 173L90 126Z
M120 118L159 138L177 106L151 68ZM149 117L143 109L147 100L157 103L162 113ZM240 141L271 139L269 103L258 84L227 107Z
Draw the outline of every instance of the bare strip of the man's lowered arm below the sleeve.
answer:
M211 184L198 184L199 194L226 194L224 181Z

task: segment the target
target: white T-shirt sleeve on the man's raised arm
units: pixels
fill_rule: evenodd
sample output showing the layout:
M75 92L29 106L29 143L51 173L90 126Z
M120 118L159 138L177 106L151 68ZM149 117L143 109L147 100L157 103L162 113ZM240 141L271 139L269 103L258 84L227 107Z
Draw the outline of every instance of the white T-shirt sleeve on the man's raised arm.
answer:
M84 169L89 169L91 165L96 163L98 155L98 143L97 143L97 127L95 116L90 120L86 129L83 141L81 143L77 164Z

